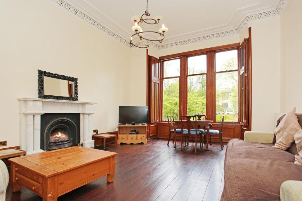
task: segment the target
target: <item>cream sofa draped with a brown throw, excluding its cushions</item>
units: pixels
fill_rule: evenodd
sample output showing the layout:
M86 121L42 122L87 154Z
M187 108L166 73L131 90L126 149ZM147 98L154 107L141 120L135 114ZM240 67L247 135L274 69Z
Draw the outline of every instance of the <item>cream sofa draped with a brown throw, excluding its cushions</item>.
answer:
M296 115L302 127L302 114ZM244 140L229 141L222 201L302 200L302 166L294 164L296 144L281 150L271 148L274 143L274 132L254 131L246 131Z

